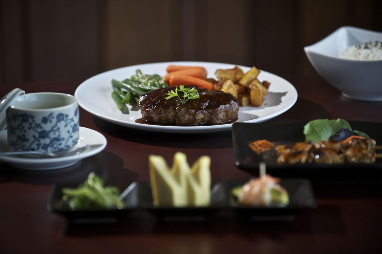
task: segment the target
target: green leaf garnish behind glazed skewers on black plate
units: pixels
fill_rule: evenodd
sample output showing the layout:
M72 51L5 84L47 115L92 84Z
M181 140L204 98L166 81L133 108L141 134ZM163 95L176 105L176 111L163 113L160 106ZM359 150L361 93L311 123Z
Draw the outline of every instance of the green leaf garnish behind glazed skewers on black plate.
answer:
M316 143L319 141L328 140L342 128L351 130L350 124L341 118L338 118L337 120L317 119L310 121L304 126L305 141L312 141ZM354 132L361 137L369 138L369 136L363 132L358 130L354 130Z

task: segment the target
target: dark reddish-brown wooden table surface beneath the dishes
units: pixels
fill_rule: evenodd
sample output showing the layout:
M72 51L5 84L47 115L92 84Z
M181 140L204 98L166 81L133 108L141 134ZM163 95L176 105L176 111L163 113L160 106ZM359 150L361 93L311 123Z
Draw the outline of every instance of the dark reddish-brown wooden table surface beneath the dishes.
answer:
M321 78L285 77L298 91L289 111L270 122L317 118L382 122L381 102L349 100ZM0 87L0 96L19 87L27 93L74 94L80 82L34 82ZM317 208L294 221L248 222L208 220L165 222L133 215L118 223L69 225L47 211L55 182L80 182L89 172L125 189L149 180L147 157L162 154L168 162L176 151L189 162L212 158L212 179L248 179L236 168L231 132L166 134L142 132L94 117L83 109L80 125L105 135L101 153L66 169L31 172L0 162L0 249L2 253L371 253L381 252L382 191L373 182L313 180ZM361 171L362 169L360 169ZM366 173L367 174L367 173Z

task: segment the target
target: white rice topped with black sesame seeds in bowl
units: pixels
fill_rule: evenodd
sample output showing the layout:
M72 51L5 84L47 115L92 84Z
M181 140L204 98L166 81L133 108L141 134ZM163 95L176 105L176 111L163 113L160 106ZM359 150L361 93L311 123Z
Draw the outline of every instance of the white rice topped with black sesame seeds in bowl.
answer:
M342 50L340 58L350 60L382 60L382 42L365 42Z

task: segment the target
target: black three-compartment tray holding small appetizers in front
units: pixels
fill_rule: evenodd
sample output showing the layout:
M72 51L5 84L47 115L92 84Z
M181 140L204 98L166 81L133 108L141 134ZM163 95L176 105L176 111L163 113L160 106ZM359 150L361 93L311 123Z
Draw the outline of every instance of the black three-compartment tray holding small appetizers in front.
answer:
M194 220L195 217L208 219L219 216L222 211L234 216L283 216L316 207L311 183L307 179L282 179L281 185L288 191L290 204L286 207L244 207L231 195L231 189L243 185L246 180L217 182L211 189L211 202L206 207L155 207L152 205L151 188L143 182L133 182L120 197L126 206L111 210L71 210L62 203L62 188L75 188L78 184L57 183L53 185L48 210L65 216L71 221L99 222L108 219L120 219L132 212L149 212L160 219ZM277 218L277 217L274 217Z

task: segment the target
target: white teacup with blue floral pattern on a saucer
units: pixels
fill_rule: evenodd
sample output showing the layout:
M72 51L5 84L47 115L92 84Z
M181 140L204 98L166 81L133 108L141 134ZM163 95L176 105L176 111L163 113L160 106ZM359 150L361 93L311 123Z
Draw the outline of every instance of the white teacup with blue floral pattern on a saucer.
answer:
M79 139L77 99L64 93L27 93L6 109L8 146L15 151L54 152Z

